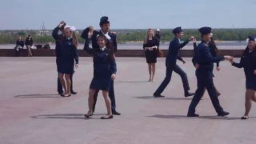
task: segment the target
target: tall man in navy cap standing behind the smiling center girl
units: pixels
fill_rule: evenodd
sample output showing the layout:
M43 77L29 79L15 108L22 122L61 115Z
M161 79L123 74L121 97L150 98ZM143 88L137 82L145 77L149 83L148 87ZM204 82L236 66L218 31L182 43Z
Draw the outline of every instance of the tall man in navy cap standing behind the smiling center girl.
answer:
M112 43L112 46L114 46L114 53L118 50L118 44L117 44L117 36L114 33L109 32L110 30L110 20L108 17L103 16L100 19L99 22L99 26L101 27L101 30L96 31L94 30L93 26L89 26L86 28L86 30L83 30L81 37L86 39L88 38L88 33L89 31L93 31L92 36L90 37L91 41L92 41L92 47L93 49L99 49L98 43L97 43L97 36L98 34L107 34L110 36L110 42ZM97 98L98 98L98 91L96 90L95 94L94 94L94 108L93 110L95 110L95 106L96 106L96 102L97 102ZM115 98L114 98L114 80L111 80L110 83L110 100L111 100L111 109L112 109L112 114L115 115L120 115L120 113L118 113L117 110L115 110Z

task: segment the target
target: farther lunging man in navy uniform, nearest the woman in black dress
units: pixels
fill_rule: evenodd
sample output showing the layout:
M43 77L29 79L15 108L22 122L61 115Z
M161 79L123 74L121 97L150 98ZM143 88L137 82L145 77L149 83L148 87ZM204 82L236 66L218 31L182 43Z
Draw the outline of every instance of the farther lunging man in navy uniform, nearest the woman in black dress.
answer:
M177 59L185 63L182 58L178 56L178 51L182 49L182 47L186 46L187 43L192 41L194 37L190 37L189 40L181 43L180 38L183 36L182 27L176 27L173 30L173 34L175 34L175 38L170 42L168 54L166 57L166 78L163 80L161 85L158 87L158 90L154 92L154 97L161 98L163 90L166 89L166 86L169 84L171 75L173 71L181 76L182 84L184 89L184 96L189 97L194 95L194 93L190 93L190 86L186 76L186 73L176 64Z

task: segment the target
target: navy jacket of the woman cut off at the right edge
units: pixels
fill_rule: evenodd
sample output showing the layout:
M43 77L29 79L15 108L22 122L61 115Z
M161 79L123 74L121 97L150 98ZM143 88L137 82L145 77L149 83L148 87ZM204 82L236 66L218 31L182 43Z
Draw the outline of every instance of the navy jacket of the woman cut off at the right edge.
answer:
M244 54L242 54L240 62L233 62L232 66L238 68L243 67L246 78L249 78L253 82L256 82L256 74L254 74L254 70L256 70L256 49L254 49L254 51L251 53L248 49L246 49Z

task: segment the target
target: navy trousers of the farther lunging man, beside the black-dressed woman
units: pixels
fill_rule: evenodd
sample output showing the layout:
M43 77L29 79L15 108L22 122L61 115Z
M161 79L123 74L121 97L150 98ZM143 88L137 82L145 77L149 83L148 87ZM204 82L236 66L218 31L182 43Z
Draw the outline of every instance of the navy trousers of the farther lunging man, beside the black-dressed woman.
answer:
M158 90L156 90L154 94L162 94L163 90L166 89L166 86L168 86L170 82L173 71L179 76L181 76L184 91L186 92L190 90L190 85L189 85L186 73L178 65L174 65L174 66L166 66L166 78L163 80L161 85L158 87Z

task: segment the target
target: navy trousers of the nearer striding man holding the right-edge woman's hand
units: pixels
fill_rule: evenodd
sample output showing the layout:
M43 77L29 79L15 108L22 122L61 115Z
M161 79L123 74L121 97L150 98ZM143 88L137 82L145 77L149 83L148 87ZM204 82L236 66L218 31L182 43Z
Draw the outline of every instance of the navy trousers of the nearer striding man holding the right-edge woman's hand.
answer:
M190 103L188 114L195 113L195 108L196 106L198 106L198 103L202 98L202 94L204 92L205 87L206 87L206 90L208 91L210 100L213 103L216 113L222 113L223 109L218 101L218 96L214 86L212 72L210 70L209 72L204 72L204 73L196 72L196 75L197 75L197 81L198 81L198 89L195 91L194 97Z

